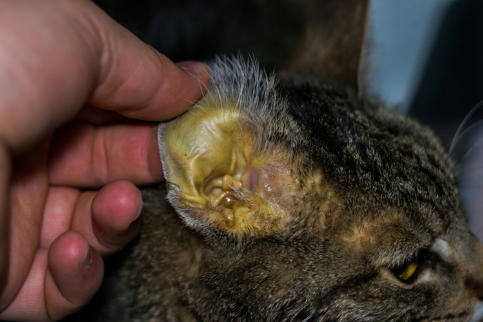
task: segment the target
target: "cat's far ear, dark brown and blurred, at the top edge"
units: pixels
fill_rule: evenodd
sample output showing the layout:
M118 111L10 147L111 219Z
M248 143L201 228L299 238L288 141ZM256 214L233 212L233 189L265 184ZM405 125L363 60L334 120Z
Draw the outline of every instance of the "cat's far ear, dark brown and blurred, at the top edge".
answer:
M282 74L313 74L360 85L370 0L319 1Z

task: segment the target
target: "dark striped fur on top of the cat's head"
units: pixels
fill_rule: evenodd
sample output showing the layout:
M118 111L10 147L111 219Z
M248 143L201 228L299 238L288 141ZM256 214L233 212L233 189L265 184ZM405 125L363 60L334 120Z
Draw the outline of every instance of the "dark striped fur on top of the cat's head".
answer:
M395 210L433 234L461 217L453 164L431 130L345 88L291 83L284 91L306 131L304 168L322 172L349 210Z

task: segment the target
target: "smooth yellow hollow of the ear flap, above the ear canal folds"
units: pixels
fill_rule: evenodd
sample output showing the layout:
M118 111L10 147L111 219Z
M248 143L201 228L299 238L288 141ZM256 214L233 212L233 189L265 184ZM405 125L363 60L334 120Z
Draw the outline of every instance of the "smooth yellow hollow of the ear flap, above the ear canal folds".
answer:
M166 125L168 180L181 189L186 201L205 204L207 180L233 174L246 166L233 147L239 112L193 108Z

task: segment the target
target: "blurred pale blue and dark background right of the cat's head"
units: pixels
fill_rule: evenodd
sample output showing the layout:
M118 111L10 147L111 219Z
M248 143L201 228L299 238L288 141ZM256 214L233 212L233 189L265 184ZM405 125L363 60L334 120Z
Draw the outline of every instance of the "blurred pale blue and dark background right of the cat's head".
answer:
M451 147L470 228L483 239L483 1L372 1L366 81Z

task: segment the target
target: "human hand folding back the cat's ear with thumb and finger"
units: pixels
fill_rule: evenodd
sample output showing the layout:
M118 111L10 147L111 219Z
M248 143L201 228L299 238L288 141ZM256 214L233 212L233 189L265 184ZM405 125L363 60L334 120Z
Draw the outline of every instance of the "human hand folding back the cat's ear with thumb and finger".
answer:
M148 122L208 85L184 67L88 1L0 0L0 319L61 319L95 294L101 255L139 230L134 184L162 179Z

